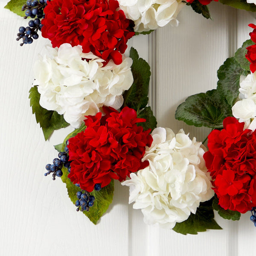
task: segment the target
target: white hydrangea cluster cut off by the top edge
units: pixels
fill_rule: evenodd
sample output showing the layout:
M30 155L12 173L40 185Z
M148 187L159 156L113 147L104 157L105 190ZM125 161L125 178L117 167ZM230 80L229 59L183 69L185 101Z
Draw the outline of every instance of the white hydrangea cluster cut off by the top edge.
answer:
M171 23L178 26L177 15L185 6L182 0L118 0L126 17L134 20L135 32L157 29Z

